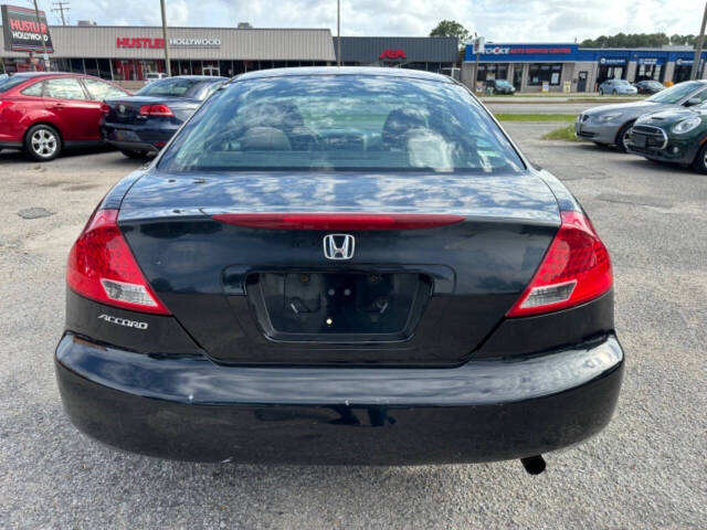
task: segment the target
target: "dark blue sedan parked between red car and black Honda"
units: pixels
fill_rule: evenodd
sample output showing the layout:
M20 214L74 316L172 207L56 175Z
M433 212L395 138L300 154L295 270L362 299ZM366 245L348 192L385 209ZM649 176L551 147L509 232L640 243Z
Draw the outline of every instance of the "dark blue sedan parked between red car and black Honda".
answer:
M106 99L101 134L130 158L158 151L226 77L180 75L155 81L134 96Z

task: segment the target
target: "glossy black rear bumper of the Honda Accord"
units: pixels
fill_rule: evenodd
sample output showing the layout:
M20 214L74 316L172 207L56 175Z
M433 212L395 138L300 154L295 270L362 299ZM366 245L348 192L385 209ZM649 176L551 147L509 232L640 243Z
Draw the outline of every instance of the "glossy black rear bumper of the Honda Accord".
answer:
M614 336L577 349L450 369L240 368L99 346L55 357L84 433L163 458L410 465L519 458L578 443L613 413Z

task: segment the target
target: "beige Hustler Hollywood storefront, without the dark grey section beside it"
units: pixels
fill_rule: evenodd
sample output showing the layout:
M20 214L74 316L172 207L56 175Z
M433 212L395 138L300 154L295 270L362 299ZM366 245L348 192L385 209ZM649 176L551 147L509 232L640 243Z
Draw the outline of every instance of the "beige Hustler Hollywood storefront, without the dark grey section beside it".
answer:
M327 29L161 28L65 25L50 28L51 68L96 75L126 86L141 85L148 72L165 72L165 46L172 75L232 76L252 70L336 63ZM6 72L32 68L28 53L6 50Z

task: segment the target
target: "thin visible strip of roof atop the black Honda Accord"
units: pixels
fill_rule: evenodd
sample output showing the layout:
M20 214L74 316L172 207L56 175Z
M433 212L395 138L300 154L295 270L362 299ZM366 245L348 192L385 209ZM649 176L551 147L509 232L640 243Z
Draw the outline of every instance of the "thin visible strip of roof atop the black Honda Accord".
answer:
M298 66L292 68L271 68L247 72L234 78L238 81L261 80L270 77L308 77L316 75L358 75L377 77L409 77L414 80L455 83L449 75L435 74L422 70L389 68L380 66Z

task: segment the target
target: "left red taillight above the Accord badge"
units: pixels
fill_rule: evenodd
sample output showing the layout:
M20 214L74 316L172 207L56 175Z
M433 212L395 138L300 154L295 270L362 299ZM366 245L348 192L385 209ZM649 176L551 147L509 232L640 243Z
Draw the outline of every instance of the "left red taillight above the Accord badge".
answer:
M117 219L117 210L93 214L68 254L66 284L102 304L169 315L133 257Z

